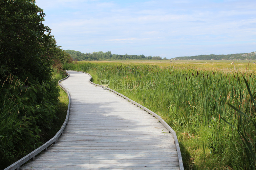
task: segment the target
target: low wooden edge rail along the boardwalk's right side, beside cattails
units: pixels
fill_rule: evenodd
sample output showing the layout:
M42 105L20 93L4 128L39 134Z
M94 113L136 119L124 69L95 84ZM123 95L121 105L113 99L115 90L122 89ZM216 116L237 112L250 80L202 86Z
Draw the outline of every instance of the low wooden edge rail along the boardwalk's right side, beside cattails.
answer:
M63 71L74 71L74 70L63 70ZM76 71L76 72L81 72L81 73L85 73L85 72L82 72L82 71ZM142 110L148 112L149 114L151 114L153 117L155 117L156 119L159 120L159 122L161 122L163 124L164 127L166 127L168 130L169 130L169 133L171 133L174 137L174 142L175 142L175 145L176 145L176 150L177 150L177 153L178 153L178 161L179 161L179 166L180 166L180 170L184 170L184 167L183 167L183 162L182 162L182 156L181 156L181 149L180 149L180 145L179 145L179 142L178 142L178 138L177 138L177 135L175 133L175 131L158 115L156 114L155 112L149 110L148 108L140 105L139 103L129 99L128 97L126 97L125 95L121 94L121 93L118 93L116 92L115 90L112 90L108 87L105 87L105 86L102 86L102 85L99 85L99 84L96 84L96 83L93 83L91 80L92 80L92 76L89 74L89 73L85 73L87 75L89 75L91 78L89 80L89 82L95 86L99 86L99 87L102 87L102 88L106 88L107 90L113 92L113 93L116 93L117 95L123 97L124 99L128 100L129 102L131 102L132 104L138 106L139 108L141 108Z

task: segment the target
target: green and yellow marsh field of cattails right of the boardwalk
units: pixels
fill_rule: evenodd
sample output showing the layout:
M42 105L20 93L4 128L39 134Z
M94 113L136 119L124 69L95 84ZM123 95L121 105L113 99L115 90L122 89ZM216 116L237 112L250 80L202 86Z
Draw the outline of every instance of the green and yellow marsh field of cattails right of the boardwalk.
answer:
M186 169L255 169L253 62L86 61L64 69L88 72L98 84L107 79L159 114L177 132Z

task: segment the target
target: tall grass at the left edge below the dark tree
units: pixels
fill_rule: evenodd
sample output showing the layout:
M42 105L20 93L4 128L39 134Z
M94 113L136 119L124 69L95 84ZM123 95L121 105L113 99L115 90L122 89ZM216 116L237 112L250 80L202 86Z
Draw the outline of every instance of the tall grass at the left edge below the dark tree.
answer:
M24 89L24 84L16 77L9 75L0 88L0 154L4 160L13 160L20 152L15 149L15 144L19 140L19 127L22 121L18 119L20 106L17 104L20 88ZM25 91L26 89L24 89ZM7 114L4 114L7 113ZM5 164L3 164L4 166Z

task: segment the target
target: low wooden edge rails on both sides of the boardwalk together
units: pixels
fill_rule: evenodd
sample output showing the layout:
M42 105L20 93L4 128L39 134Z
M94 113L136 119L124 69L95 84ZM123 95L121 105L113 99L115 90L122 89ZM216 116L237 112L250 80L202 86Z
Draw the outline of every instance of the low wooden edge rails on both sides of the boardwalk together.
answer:
M74 71L74 70L63 70L63 71ZM82 71L76 71L76 72L81 72L81 73L85 73ZM92 80L92 76L89 73L85 73L88 74L91 78L90 78L90 83L95 85L95 86L99 86L102 88L105 88L105 86L99 85L99 84L95 84L93 82L91 82ZM40 154L42 151L46 151L48 149L48 147L52 144L55 144L58 141L59 136L63 133L64 128L66 127L67 123L68 123L68 117L69 117L69 108L70 108L70 94L69 92L60 84L61 81L67 79L69 77L69 75L61 80L59 80L58 84L59 86L68 94L69 97L69 105L68 105L68 111L67 111L67 116L65 119L65 122L63 123L62 127L60 128L60 130L56 133L56 135L50 139L48 142L46 142L45 144L43 144L42 146L40 146L39 148L35 149L34 151L32 151L31 153L29 153L28 155L26 155L25 157L21 158L19 161L11 164L10 166L8 166L6 169L4 170L19 170L20 166L22 166L24 163L26 163L29 160L34 160L34 158ZM183 170L183 162L182 162L182 157L181 157L181 150L180 150L180 146L179 146L179 142L178 142L178 138L177 135L175 133L175 131L156 113L154 113L153 111L149 110L148 108L140 105L139 103L129 99L128 97L126 97L125 95L116 92L115 90L112 90L110 88L107 88L107 90L116 93L117 95L123 97L124 99L128 100L129 102L131 102L132 104L136 105L137 107L139 107L140 109L148 112L149 114L151 114L153 117L155 117L156 119L158 119L159 122L161 122L163 124L164 127L166 127L169 131L169 133L171 133L174 137L174 142L176 145L176 150L177 150L177 154L178 154L178 161L179 161L179 166L180 166L180 170Z

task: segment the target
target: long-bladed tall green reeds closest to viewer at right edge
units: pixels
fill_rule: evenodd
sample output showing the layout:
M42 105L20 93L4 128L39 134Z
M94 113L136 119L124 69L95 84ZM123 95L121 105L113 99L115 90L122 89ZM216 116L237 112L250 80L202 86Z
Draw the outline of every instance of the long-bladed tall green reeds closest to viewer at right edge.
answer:
M252 94L250 87L248 85L247 80L243 76L246 84L247 91L250 95L250 98L241 98L238 107L234 107L230 103L227 103L232 109L235 110L232 124L223 119L227 124L229 124L234 130L237 131L237 134L240 138L237 139L237 143L242 146L243 149L236 147L234 144L234 151L236 151L237 158L241 157L243 162L247 164L243 164L242 162L233 163L234 169L251 169L254 170L256 168L256 103L255 103L255 92ZM240 109L243 108L241 111Z

